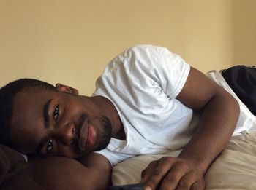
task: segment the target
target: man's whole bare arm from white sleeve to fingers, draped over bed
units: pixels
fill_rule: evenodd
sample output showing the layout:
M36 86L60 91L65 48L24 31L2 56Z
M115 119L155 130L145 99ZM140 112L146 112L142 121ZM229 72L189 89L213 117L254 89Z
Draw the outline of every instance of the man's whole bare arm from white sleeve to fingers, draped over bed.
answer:
M178 158L164 157L143 170L142 182L155 189L204 189L203 175L230 140L239 115L236 100L204 74L191 68L178 95L185 105L202 111L197 131Z

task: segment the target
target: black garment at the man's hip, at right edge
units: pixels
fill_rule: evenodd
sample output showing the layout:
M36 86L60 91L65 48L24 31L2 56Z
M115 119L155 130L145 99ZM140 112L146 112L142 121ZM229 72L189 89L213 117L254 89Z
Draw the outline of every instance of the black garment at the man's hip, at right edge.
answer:
M233 66L222 71L227 84L256 116L256 67Z

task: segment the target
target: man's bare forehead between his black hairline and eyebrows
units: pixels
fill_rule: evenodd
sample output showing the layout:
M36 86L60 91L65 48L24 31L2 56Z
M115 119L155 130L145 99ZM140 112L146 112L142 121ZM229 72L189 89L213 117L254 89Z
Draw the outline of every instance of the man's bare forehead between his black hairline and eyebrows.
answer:
M43 134L43 107L47 97L42 93L26 91L19 92L15 97L10 137L16 146L34 151Z

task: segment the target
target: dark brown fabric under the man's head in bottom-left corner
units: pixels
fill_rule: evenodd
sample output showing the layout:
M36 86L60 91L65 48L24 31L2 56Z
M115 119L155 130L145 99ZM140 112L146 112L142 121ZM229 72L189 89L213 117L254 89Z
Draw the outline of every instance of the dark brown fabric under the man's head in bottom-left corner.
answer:
M0 189L42 189L29 163L17 151L0 144Z

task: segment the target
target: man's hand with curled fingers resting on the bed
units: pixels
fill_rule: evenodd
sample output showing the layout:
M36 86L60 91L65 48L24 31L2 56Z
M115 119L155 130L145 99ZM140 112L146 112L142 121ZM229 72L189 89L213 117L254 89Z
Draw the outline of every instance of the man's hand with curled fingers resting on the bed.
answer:
M145 189L205 189L203 172L185 159L162 157L141 173ZM150 188L149 188L150 187Z

